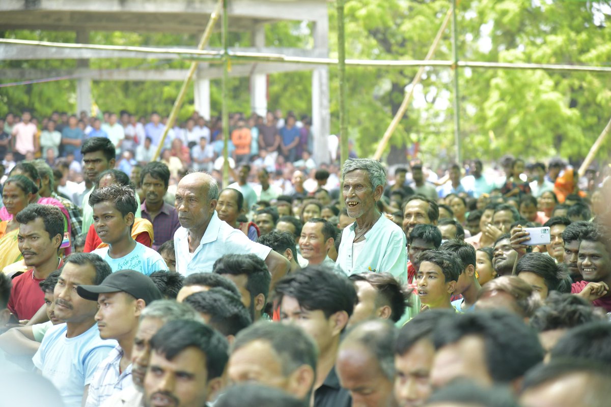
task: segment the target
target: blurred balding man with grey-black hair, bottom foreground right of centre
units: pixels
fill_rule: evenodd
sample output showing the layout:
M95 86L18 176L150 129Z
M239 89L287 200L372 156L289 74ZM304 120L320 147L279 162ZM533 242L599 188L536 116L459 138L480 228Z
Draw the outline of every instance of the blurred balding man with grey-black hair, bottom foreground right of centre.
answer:
M365 321L343 338L337 353L340 386L353 399L353 406L394 407L393 347L397 330L383 320Z

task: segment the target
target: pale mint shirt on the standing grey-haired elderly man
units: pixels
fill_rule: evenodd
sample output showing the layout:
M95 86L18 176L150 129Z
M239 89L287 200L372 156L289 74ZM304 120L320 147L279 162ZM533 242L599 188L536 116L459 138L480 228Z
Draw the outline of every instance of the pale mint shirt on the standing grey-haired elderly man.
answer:
M408 281L406 238L401 228L384 215L365 233L365 245L353 251L356 222L346 226L338 250L335 268L346 275L362 272L389 272L401 283ZM353 267L353 257L356 257Z

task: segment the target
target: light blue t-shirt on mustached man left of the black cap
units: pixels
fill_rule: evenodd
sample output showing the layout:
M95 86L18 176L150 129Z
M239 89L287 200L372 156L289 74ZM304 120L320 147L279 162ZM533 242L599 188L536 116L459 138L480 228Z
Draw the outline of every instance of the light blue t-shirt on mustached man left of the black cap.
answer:
M65 407L81 407L85 386L117 341L101 339L97 324L73 338L66 337L67 330L65 323L50 328L32 361L59 391Z

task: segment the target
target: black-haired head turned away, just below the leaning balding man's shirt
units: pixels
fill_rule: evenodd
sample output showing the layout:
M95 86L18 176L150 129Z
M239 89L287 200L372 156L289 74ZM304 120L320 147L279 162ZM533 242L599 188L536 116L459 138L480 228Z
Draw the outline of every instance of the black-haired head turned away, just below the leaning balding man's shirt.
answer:
M262 259L254 254L225 254L214 262L212 272L235 283L252 322L261 319L271 284L271 274Z

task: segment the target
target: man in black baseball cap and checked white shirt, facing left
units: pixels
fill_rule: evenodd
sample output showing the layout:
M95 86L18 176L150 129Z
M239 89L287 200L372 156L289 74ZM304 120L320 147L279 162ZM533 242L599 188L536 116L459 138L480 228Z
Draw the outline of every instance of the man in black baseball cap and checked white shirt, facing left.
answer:
M142 310L163 295L153 280L134 270L112 273L99 286L79 286L82 298L98 301L95 320L102 339L116 339L119 345L100 363L89 386L86 407L100 406L106 398L131 380L131 351Z

